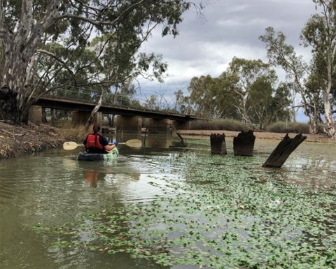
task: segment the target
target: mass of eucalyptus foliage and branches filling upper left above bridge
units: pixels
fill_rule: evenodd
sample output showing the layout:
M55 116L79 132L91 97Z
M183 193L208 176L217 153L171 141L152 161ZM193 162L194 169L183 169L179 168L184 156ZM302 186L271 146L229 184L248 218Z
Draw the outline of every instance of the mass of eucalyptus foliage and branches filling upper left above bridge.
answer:
M162 56L139 49L160 26L162 36L179 34L181 16L192 3L8 0L1 5L0 44L8 53L1 60L0 86L12 85L17 100L25 100L14 114L27 122L29 106L47 92L90 92L98 101L139 75L162 82L167 71Z

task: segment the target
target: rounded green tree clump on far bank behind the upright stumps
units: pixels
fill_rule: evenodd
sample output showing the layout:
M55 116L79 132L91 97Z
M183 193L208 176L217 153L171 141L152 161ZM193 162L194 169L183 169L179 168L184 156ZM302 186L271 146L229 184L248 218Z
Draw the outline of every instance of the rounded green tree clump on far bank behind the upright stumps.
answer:
M275 88L276 74L261 60L234 57L218 78L193 78L188 90L196 115L232 118L258 125L260 129L289 116L289 90Z

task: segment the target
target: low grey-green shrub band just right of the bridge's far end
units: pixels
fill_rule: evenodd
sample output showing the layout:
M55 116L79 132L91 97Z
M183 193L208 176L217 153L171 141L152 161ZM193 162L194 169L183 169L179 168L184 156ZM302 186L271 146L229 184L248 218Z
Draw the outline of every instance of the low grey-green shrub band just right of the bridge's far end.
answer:
M234 119L197 119L190 122L190 130L226 130L226 131L248 131L252 126Z

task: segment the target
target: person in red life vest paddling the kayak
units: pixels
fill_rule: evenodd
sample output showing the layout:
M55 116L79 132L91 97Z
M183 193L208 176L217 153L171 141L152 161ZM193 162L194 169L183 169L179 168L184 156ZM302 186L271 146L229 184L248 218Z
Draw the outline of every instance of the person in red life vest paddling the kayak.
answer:
M93 133L89 133L85 140L85 151L87 153L109 153L118 145L118 142L109 144L109 141L100 134L101 127L99 125L93 126Z

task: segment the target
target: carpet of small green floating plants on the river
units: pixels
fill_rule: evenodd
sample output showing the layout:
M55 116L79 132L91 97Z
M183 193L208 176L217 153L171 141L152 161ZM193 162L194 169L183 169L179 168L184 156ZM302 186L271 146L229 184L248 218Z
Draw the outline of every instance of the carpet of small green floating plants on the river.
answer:
M153 163L160 174L149 184L164 195L65 224L55 246L163 266L336 268L335 184L302 187L293 183L300 175L261 168L258 158L186 152Z

